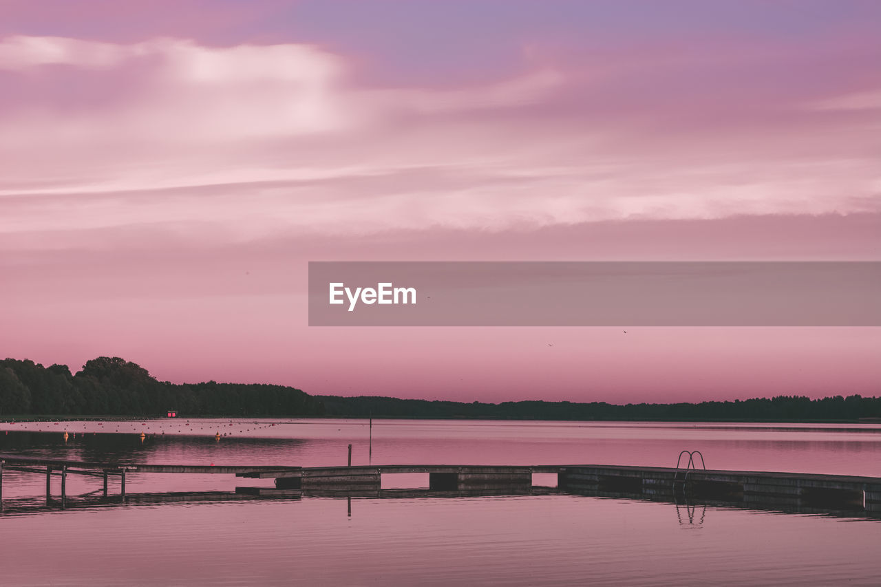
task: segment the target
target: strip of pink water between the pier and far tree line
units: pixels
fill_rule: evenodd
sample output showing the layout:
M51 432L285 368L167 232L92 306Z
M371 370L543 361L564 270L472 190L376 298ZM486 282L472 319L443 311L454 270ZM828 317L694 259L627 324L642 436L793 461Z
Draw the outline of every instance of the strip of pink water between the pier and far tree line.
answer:
M189 424L189 426L187 426ZM61 441L67 427L70 439ZM120 422L0 422L0 451L23 430L52 438L42 450L59 455L94 437L112 436L132 458L324 466L346 464L634 464L674 466L684 448L698 449L707 466L739 471L817 472L881 476L877 425L664 424L640 422L528 422L462 420L131 420ZM106 432L105 432L106 431ZM154 450L131 453L132 445ZM95 435L97 433L97 435ZM163 434L164 433L164 434ZM215 438L219 433L219 440ZM372 435L372 446L371 446ZM189 444L188 439L214 442ZM268 441L248 444L248 440ZM174 442L180 440L180 450ZM160 444L159 441L165 442ZM298 441L298 442L287 442ZM210 444L210 443L209 443ZM198 446L196 453L189 448ZM70 448L68 448L70 447ZM371 455L372 450L372 455Z

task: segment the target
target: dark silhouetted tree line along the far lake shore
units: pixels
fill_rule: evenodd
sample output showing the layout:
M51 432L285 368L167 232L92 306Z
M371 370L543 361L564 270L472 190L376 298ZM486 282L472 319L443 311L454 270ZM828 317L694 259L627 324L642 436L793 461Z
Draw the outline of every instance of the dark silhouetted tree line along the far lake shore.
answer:
M28 415L329 416L470 420L806 421L881 420L881 398L801 396L627 404L431 401L375 396L310 396L283 385L157 381L119 357L98 357L75 375L66 365L0 360L0 417Z

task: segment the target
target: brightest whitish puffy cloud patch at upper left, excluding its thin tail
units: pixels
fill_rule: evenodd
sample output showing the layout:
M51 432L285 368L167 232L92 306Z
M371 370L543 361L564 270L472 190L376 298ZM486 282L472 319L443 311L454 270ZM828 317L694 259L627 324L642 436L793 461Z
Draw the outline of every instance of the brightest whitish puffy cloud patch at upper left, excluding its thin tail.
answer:
M343 63L307 45L208 48L174 39L115 45L56 37L0 43L0 67L51 78L58 74L45 66L59 64L105 70L104 78L75 76L85 91L89 84L106 89L95 100L100 108L67 104L56 94L39 110L25 108L23 123L6 121L14 140L32 137L29 142L40 144L55 135L77 143L191 143L308 134L346 124L336 90ZM137 91L120 92L127 85Z

